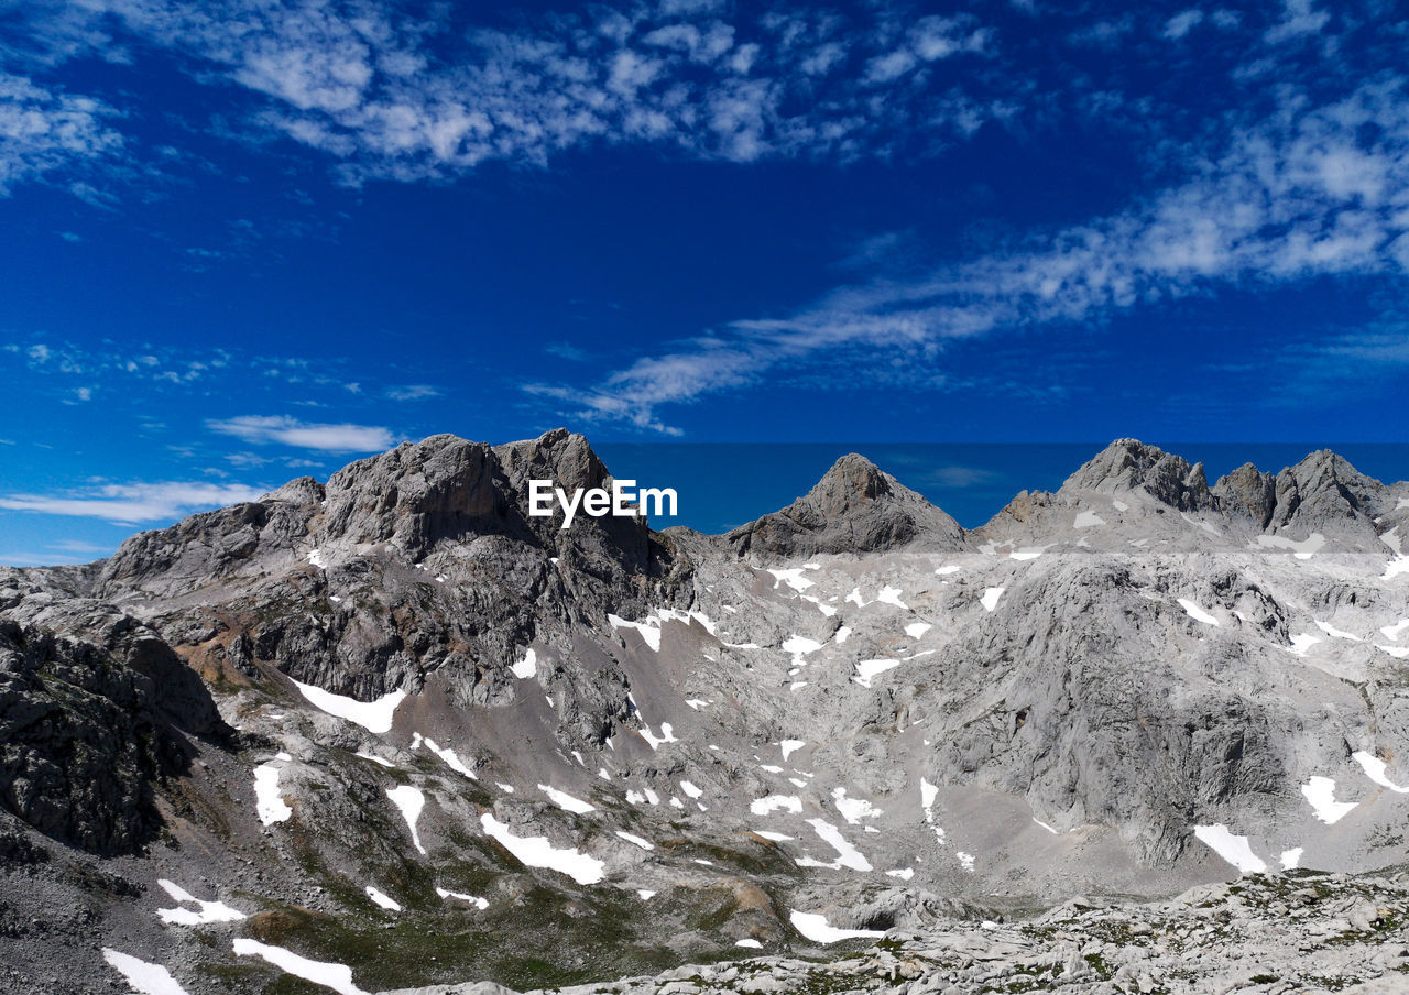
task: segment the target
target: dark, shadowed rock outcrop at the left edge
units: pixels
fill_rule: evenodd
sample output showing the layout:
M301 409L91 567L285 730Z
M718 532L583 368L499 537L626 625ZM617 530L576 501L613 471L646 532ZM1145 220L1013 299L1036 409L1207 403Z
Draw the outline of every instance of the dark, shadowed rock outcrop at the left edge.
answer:
M139 850L161 826L152 782L194 755L182 731L227 731L210 692L135 619L0 583L0 802L82 850Z

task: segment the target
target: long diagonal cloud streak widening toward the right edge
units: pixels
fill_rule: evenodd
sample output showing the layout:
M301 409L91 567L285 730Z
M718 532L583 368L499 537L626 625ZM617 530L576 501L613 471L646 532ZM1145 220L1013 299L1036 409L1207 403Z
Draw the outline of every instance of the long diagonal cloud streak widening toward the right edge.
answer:
M1402 275L1409 271L1406 109L1409 80L1392 73L1322 101L1282 87L1261 120L1230 114L1222 134L1185 149L1184 182L1119 213L1034 233L917 278L840 286L786 317L737 320L586 389L527 389L579 417L671 433L666 406L847 350L907 352L933 366L955 340L1102 323L1220 288Z

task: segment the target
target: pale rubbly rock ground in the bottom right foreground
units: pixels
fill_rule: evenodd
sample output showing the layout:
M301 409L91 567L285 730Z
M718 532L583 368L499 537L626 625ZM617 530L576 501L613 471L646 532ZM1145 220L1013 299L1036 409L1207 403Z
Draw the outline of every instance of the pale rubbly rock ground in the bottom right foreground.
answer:
M395 995L503 995L490 982ZM1074 898L1019 923L890 930L837 960L686 965L555 995L1409 992L1409 874L1292 872L1150 905ZM538 995L537 992L534 995ZM544 992L547 995L547 992Z

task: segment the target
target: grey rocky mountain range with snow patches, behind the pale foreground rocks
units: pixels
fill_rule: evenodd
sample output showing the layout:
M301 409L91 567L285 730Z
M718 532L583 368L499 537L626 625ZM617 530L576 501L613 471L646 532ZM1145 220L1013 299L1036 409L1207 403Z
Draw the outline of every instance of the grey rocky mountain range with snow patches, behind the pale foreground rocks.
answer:
M964 531L851 455L710 537L534 478L609 472L438 435L0 571L15 991L530 989L1409 858L1409 485L1120 440Z

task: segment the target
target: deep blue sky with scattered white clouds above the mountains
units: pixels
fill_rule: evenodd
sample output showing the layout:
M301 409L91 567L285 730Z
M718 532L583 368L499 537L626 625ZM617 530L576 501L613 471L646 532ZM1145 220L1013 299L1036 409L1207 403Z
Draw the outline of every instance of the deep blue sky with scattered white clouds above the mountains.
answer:
M0 562L437 431L1403 443L1406 17L7 4Z

